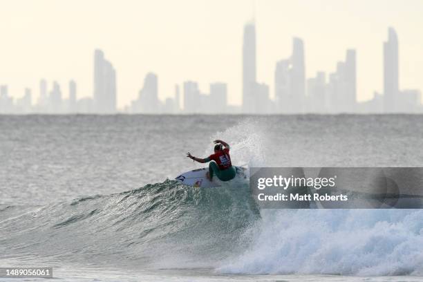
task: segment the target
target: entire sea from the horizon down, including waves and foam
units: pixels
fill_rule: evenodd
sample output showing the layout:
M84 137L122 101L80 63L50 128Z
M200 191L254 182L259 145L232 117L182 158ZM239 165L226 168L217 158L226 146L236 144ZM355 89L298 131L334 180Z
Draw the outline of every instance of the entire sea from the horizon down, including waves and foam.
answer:
M247 167L422 167L422 124L0 115L0 267L53 266L60 281L423 281L420 209L259 209L247 182L173 180L215 139Z

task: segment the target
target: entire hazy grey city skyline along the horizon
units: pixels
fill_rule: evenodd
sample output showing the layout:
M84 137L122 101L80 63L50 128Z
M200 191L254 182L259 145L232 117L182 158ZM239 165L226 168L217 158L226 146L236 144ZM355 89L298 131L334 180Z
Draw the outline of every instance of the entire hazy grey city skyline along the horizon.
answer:
M292 38L292 55L275 62L274 95L270 87L256 79L256 27L254 21L245 23L242 46L242 104L227 103L227 83L210 82L208 93L200 90L198 82L185 80L175 85L174 97L161 101L158 75L147 73L137 99L117 108L117 71L105 58L102 50L94 51L93 97L77 100L77 83L68 84L68 99L63 99L61 86L53 81L48 88L46 79L39 82L39 99L32 102L32 90L25 88L16 101L8 95L8 86L0 86L0 113L245 113L245 114L301 114L301 113L423 113L421 91L400 89L399 48L395 29L388 28L383 42L382 93L373 99L357 101L357 54L347 49L344 61L337 62L333 73L317 72L306 77L304 41ZM181 102L181 96L182 101Z

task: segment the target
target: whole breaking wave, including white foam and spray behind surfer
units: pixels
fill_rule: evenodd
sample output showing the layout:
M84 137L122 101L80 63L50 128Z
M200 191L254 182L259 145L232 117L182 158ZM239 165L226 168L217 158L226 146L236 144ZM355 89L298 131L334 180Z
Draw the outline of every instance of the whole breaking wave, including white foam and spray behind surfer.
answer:
M265 145L261 127L247 120L214 139L230 141L238 165L265 166L265 148L274 146ZM423 275L422 217L417 209L259 210L246 183L197 189L166 180L42 207L1 207L0 253L221 273Z

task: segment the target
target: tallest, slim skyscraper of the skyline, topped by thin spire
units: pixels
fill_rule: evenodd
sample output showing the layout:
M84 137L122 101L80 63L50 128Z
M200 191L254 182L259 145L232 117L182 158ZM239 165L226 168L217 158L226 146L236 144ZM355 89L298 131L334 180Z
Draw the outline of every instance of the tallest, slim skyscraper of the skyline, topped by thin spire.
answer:
M244 26L243 37L243 113L254 112L256 88L256 28L254 23Z

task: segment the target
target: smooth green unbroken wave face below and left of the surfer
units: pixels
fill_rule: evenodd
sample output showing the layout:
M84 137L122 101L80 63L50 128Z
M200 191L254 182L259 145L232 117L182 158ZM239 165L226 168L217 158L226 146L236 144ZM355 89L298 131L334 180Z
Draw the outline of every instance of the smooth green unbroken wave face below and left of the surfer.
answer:
M243 250L240 235L258 218L245 183L198 189L166 180L6 218L0 252L78 263L209 266Z

